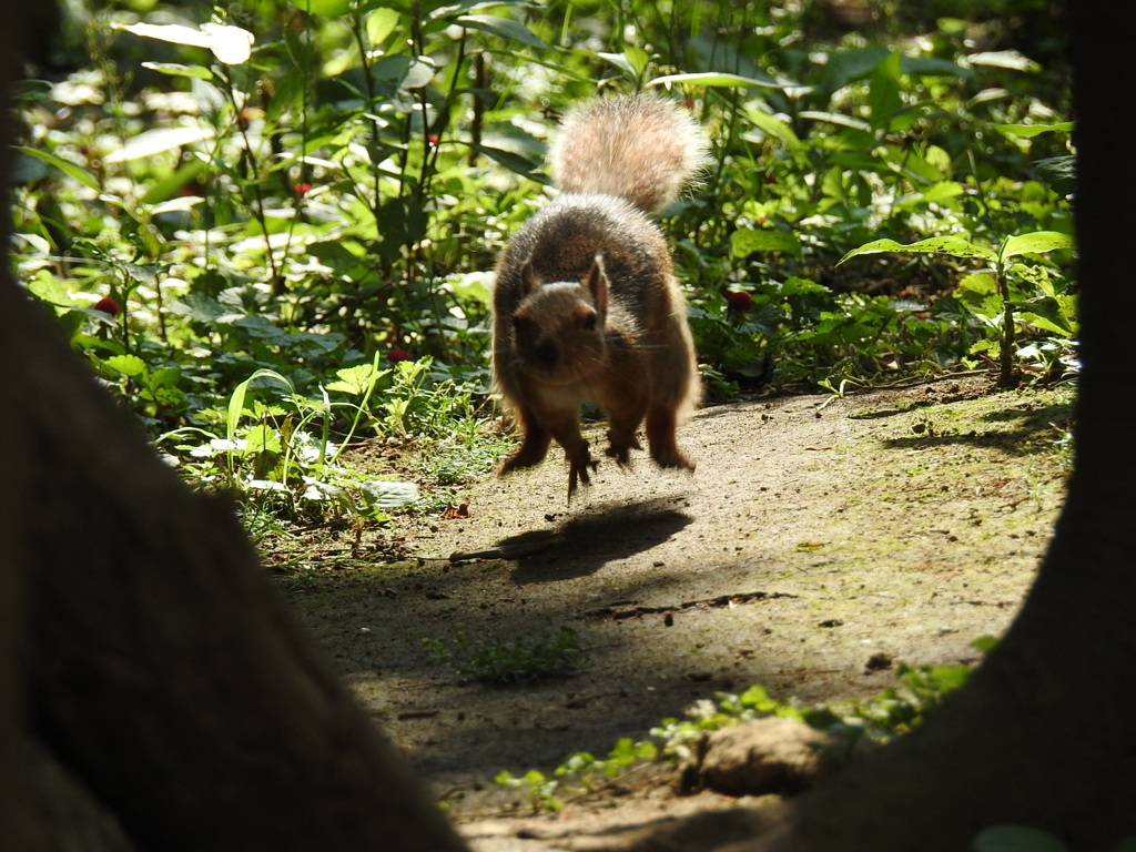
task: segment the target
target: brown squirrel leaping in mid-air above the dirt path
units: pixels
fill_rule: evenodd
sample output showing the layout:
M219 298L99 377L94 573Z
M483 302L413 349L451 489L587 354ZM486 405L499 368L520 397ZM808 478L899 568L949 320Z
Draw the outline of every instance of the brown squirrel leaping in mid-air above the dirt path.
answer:
M658 95L612 95L568 111L550 159L560 194L508 242L493 290L493 381L524 429L498 474L568 458L568 499L595 470L584 402L608 416L620 466L646 420L651 457L694 469L675 440L700 399L686 302L652 219L707 160L702 126Z

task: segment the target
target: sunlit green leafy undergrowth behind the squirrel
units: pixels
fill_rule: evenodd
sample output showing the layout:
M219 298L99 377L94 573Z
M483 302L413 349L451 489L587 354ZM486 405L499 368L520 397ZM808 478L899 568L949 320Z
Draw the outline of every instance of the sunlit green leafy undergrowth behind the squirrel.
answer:
M601 90L666 92L712 140L661 223L708 401L1076 370L1045 5L68 8L70 70L18 92L16 277L253 529L409 502L341 463L361 437L424 449L432 507L500 454L490 270Z

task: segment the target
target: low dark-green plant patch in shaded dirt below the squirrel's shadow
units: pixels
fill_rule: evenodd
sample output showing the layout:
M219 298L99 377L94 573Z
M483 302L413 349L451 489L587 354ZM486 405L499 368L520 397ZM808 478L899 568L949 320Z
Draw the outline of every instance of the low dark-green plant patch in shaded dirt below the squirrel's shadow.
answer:
M452 642L423 640L438 660L459 675L491 684L507 685L545 677L563 677L579 668L587 646L571 627L560 627L540 636L471 638L458 625Z

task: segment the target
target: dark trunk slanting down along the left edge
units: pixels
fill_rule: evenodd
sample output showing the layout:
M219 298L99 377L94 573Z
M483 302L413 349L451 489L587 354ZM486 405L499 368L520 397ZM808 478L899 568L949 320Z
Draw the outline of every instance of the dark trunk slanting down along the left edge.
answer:
M16 6L3 81L47 5ZM462 849L233 506L178 481L0 266L0 849L66 834L35 808L30 737L140 849Z

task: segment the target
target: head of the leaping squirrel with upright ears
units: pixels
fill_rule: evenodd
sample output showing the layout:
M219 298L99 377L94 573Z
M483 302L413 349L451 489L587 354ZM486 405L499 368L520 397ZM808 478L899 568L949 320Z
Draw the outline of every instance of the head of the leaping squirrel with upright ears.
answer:
M595 257L579 282L543 282L532 261L512 312L517 365L548 385L587 382L607 364L608 276Z

